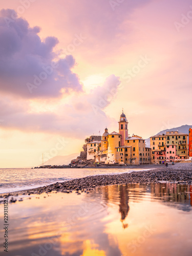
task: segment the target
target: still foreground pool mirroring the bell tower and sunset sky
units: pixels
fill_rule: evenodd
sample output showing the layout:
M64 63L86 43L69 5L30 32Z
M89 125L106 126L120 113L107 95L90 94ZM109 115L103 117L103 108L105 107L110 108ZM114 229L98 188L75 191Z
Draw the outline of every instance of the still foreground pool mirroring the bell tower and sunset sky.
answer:
M6 255L191 255L192 186L113 185L39 197L9 205Z

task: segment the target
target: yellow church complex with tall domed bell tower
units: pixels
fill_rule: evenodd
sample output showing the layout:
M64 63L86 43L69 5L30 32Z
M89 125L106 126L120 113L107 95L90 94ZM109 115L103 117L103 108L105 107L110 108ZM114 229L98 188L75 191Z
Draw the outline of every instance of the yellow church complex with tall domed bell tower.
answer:
M128 121L122 111L119 132L109 133L105 128L102 136L91 136L87 141L87 159L105 164L150 164L151 148L142 137L128 133Z

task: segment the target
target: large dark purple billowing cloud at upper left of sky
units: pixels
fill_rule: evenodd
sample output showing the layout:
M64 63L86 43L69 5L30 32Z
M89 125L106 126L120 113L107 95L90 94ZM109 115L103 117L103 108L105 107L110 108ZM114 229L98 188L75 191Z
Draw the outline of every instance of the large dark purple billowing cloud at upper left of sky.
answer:
M12 17L15 17L14 19ZM25 98L59 97L69 91L82 91L72 72L72 55L59 58L54 52L56 37L38 36L14 10L0 12L0 91Z

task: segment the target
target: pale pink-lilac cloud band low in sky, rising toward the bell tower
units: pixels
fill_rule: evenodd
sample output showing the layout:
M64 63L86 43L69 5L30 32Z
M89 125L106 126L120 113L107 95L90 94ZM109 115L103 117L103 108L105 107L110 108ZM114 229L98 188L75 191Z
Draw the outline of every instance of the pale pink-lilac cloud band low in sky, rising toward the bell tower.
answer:
M26 100L20 103L0 99L0 112L4 119L2 128L24 132L55 133L73 138L83 138L104 129L113 119L106 117L104 109L116 97L119 77L111 75L102 86L89 94L71 96L70 104L56 103L54 112L34 112ZM102 130L101 130L102 133Z

